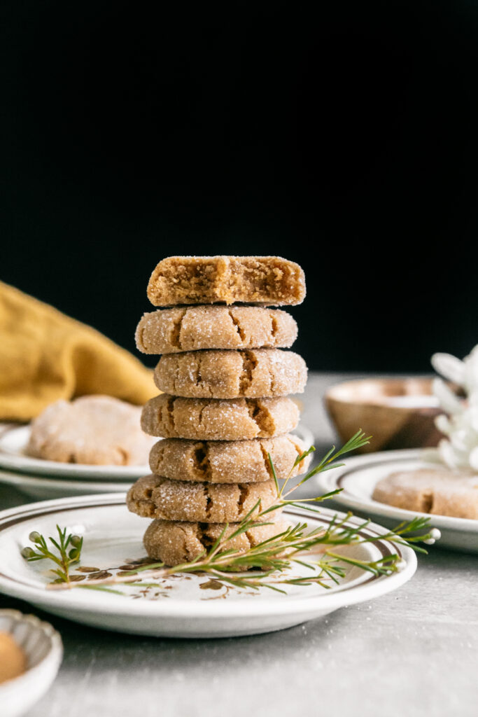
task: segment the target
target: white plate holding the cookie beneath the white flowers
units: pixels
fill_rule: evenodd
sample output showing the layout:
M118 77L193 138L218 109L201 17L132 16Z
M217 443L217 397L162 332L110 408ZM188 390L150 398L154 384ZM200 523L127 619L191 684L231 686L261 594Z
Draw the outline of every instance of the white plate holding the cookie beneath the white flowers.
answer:
M478 553L478 521L416 513L373 500L372 493L376 483L389 473L396 470L415 470L427 465L436 467L436 462L427 462L426 455L430 455L430 449L416 448L345 458L343 467L317 476L320 493L342 488L342 493L334 496L335 503L379 520L389 528L394 528L401 521L410 521L417 515L427 516L431 519L432 526L439 528L441 532L437 546Z

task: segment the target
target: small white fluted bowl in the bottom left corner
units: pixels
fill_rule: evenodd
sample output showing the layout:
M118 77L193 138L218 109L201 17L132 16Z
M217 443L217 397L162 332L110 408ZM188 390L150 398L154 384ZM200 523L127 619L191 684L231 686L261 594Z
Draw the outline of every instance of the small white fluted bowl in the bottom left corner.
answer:
M0 610L0 632L11 635L27 655L27 670L0 685L1 717L19 717L37 702L57 675L62 638L49 622L18 610Z

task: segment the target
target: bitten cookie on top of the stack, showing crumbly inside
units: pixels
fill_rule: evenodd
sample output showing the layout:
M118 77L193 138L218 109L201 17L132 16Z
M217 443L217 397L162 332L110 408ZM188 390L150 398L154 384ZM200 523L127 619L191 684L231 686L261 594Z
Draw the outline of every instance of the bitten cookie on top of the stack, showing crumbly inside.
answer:
M282 257L167 257L151 274L154 306L177 304L300 304L305 297L301 267Z

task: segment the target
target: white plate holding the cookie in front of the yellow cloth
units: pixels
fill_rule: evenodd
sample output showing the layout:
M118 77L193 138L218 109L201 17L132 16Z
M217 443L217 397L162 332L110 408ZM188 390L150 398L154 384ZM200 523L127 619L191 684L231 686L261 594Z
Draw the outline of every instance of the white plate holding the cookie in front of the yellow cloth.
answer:
M299 424L292 431L295 435L302 438L306 447L310 447L313 442L312 431ZM142 475L150 473L148 465L84 465L80 463L60 463L54 460L44 460L42 458L34 458L25 452L30 435L29 426L9 427L0 435L0 469L14 473L26 473L31 478L37 475L47 476L48 478L62 478L64 480L91 480L98 483L99 481L112 481L118 483L123 480L133 483L133 480L140 478ZM158 438L158 440L161 440ZM99 485L99 483L98 483ZM128 485L123 486L123 490L127 490ZM105 492L106 490L117 490L117 488L107 487L101 491L78 491L75 495L83 495L85 493ZM33 494L31 494L33 495ZM57 495L74 495L73 493L57 493ZM36 497L47 497L46 494ZM49 495L49 498L53 495Z

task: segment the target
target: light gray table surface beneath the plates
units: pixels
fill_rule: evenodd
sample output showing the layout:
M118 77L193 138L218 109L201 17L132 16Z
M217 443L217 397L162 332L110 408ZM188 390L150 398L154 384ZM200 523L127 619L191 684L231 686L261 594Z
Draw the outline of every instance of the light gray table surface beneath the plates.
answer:
M310 375L302 420L317 450L335 440L322 397L342 379ZM27 502L0 485L0 509ZM253 637L122 635L34 609L61 633L64 660L29 717L477 716L477 566L434 548L396 592ZM0 607L32 612L3 596Z

